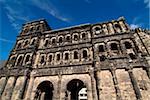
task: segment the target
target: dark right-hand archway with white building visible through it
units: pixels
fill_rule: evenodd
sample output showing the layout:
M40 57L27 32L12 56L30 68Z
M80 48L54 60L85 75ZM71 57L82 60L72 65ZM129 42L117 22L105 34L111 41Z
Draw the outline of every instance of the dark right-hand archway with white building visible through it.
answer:
M87 100L87 90L85 84L78 79L71 80L67 84L66 100ZM83 93L82 91L85 90ZM85 99L80 99L80 98Z

